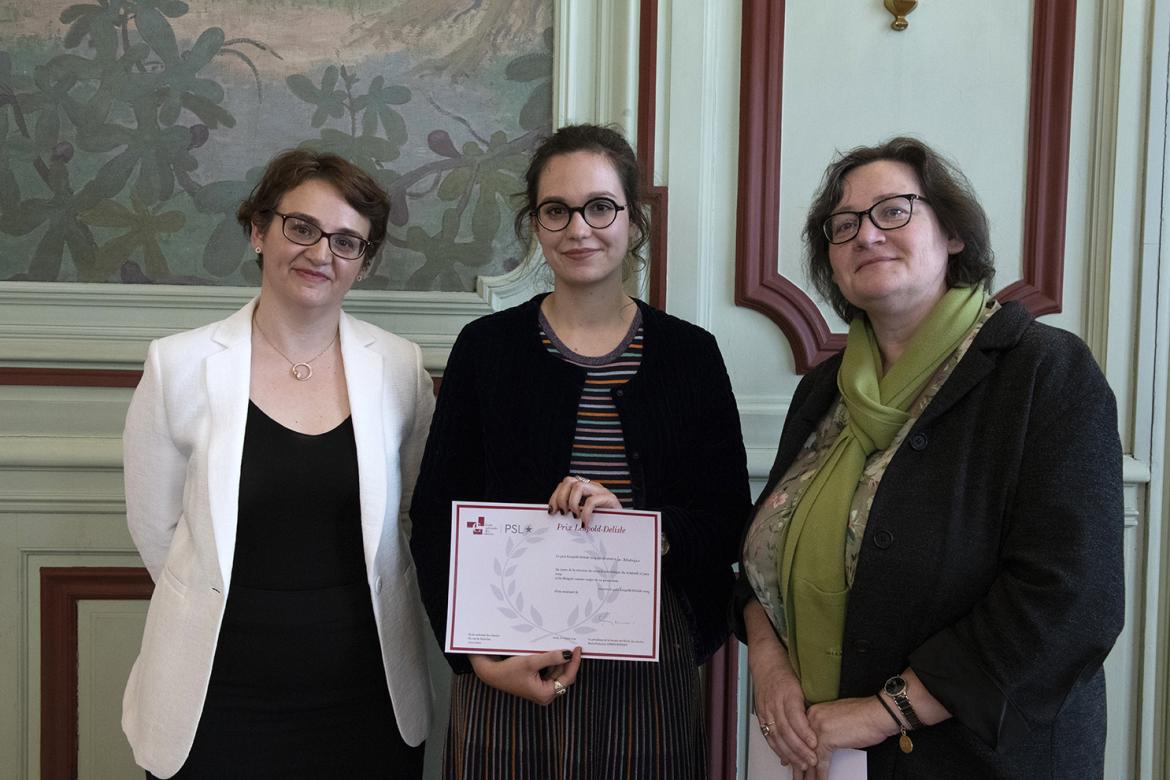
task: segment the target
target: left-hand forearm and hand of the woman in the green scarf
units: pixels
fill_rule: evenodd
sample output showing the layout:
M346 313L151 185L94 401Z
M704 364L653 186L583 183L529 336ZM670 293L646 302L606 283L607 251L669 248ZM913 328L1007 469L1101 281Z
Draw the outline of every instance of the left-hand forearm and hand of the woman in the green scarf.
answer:
M744 622L748 668L756 690L756 717L760 729L768 726L768 745L793 769L812 768L817 766L817 734L808 725L804 690L789 654L755 599L744 607Z

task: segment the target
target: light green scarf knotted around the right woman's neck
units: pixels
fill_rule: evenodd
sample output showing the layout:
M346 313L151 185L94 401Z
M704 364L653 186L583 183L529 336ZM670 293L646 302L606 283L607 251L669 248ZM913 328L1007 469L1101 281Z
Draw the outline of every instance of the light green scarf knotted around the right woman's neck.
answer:
M848 422L799 498L777 561L789 657L811 703L838 697L848 584L845 533L866 460L909 420L908 409L979 317L982 287L948 290L882 377L881 352L866 317L849 324L837 386Z

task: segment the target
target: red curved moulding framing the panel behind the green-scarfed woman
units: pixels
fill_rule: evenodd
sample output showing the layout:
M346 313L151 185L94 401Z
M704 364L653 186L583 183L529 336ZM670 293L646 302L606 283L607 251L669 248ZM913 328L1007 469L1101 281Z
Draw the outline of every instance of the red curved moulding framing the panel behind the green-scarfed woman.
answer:
M777 270L784 0L743 0L736 304L775 322L806 372L845 346L817 304ZM1068 195L1075 0L1035 0L1028 104L1024 278L998 294L1035 315L1060 311Z

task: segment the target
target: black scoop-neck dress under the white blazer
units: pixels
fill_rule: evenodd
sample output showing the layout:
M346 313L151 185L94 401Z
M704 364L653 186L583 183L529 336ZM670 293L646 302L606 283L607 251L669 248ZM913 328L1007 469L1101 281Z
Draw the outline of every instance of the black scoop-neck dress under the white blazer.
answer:
M353 423L310 436L254 403L207 699L176 778L418 778L366 584Z

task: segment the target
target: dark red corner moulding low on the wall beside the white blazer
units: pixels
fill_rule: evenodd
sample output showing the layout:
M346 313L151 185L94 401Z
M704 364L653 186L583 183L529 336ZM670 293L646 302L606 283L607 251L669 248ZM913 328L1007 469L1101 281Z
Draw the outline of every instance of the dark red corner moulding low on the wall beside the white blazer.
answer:
M41 778L77 776L77 602L150 599L145 568L41 568Z

